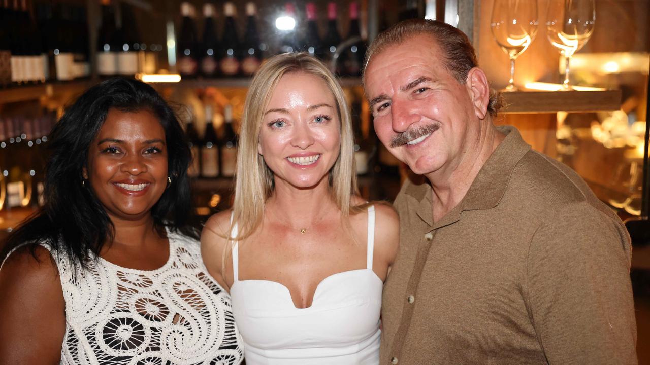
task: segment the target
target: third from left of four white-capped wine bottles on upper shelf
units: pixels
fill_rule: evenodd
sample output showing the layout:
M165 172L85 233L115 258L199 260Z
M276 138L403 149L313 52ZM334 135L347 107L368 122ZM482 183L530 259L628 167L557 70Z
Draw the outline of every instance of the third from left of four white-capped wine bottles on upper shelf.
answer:
M237 8L231 1L224 4L224 32L221 39L219 71L224 77L233 77L239 73L240 44L237 36Z

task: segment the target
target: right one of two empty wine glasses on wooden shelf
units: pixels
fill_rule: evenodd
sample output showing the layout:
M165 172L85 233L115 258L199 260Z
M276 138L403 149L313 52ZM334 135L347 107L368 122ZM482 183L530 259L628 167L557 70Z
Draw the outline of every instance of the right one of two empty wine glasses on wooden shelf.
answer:
M561 90L573 90L569 85L569 62L589 40L595 19L594 0L549 0L546 34L566 62Z

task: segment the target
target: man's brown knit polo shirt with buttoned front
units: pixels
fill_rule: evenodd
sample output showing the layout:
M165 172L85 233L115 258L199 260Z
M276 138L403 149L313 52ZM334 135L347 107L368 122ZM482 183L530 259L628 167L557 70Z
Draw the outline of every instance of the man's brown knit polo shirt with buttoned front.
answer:
M514 127L433 220L430 184L396 198L381 364L636 364L630 238L575 171Z

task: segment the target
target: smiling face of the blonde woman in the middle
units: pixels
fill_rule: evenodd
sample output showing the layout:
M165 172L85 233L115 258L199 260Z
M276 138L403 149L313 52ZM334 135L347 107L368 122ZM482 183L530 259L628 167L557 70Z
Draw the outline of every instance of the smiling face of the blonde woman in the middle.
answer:
M316 186L339 157L341 132L334 96L313 75L286 73L271 94L259 131L258 152L276 186Z

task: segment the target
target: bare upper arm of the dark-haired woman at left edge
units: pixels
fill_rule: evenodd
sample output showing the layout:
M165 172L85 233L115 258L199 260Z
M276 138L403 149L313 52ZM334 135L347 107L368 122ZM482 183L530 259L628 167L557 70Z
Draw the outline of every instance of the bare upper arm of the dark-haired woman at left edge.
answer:
M0 270L0 364L59 364L66 331L65 301L49 251L28 247Z

